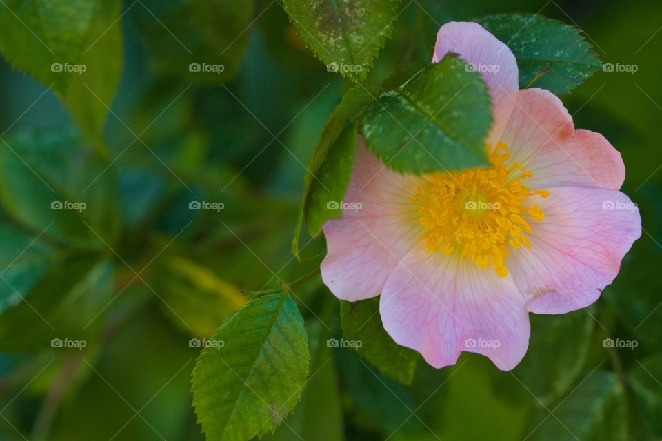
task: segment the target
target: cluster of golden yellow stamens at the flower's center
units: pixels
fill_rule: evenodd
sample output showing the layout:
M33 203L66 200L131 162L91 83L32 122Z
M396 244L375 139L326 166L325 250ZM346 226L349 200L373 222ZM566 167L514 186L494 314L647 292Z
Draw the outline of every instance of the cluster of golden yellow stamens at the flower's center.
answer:
M529 221L545 217L538 205L525 207L529 196L547 198L548 190L532 191L523 181L533 174L520 163L505 165L508 146L486 145L491 167L460 172L435 172L424 176L412 202L420 206L421 224L428 232L421 237L429 252L445 256L457 252L479 267L494 267L500 277L508 275L504 259L508 245L531 248Z

